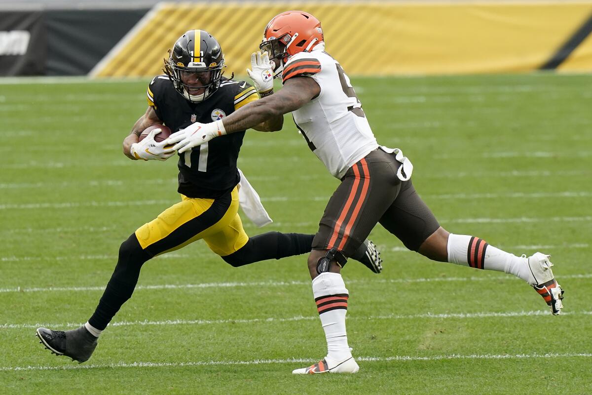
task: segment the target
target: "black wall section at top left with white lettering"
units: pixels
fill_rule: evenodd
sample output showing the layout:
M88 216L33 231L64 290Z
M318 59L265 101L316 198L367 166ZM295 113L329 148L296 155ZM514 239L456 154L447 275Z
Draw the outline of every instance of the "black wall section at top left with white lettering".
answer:
M144 9L0 9L0 76L86 75Z

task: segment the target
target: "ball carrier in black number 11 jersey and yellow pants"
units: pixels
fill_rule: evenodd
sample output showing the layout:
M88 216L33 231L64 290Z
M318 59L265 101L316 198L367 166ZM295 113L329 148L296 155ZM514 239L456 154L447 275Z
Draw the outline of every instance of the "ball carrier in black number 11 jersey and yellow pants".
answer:
M260 71L260 56L252 60L253 70ZM259 98L257 89L246 81L224 78L223 70L224 54L218 41L203 30L187 31L165 60L166 74L150 82L149 107L124 140L124 154L131 159L166 160L175 152L163 153L163 144L155 142L159 129L139 142L147 127L165 124L175 132L196 121L221 120ZM273 83L271 74L268 80ZM282 124L283 117L278 115L253 129L275 131ZM236 165L243 136L244 130L179 154L181 202L141 226L121 244L115 271L88 322L65 332L38 328L41 343L54 354L79 362L88 360L102 330L131 297L144 262L195 240L204 239L213 252L235 267L311 251L314 235L268 232L249 237L244 232L237 213L240 175ZM363 244L358 252L355 259L374 272L381 271L381 259L371 242Z

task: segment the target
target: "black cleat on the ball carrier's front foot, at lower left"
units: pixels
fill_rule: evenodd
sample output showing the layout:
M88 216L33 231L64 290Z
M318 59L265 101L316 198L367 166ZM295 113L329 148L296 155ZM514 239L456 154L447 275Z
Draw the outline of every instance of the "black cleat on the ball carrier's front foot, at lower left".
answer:
M72 358L72 361L82 362L91 358L95 351L96 339L84 326L74 330L51 330L47 328L37 328L35 335L52 354L66 355Z

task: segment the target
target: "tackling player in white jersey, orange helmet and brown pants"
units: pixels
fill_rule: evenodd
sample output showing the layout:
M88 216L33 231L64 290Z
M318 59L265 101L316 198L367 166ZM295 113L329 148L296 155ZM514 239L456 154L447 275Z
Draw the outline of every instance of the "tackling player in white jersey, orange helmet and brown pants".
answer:
M477 269L503 271L525 280L551 307L562 309L563 290L549 256L515 256L479 237L440 227L411 183L411 162L399 149L379 146L348 76L324 52L323 30L313 15L288 11L274 17L263 33L261 68L249 70L262 99L223 120L196 123L163 144L184 152L214 138L245 130L291 112L310 149L342 182L330 198L308 257L313 294L327 339L327 355L295 374L357 372L346 335L348 290L340 269L372 228L381 223L404 245L427 258ZM273 64L267 63L268 54ZM282 77L273 94L271 75Z

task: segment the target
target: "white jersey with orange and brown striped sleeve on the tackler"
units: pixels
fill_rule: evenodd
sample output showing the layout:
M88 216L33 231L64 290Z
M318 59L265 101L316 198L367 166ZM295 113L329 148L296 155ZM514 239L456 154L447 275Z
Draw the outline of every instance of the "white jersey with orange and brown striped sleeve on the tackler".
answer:
M300 75L313 78L321 92L292 111L294 122L318 159L340 179L378 143L337 60L322 50L297 53L285 64L282 82Z

